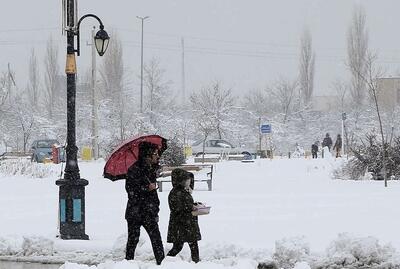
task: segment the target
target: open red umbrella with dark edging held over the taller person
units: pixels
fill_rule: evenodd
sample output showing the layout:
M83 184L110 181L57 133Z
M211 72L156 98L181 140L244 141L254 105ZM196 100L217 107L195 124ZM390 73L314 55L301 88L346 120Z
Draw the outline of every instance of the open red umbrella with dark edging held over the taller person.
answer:
M112 181L126 178L128 168L138 160L141 142L156 144L161 153L167 148L167 140L159 135L133 137L119 145L111 153L104 166L103 176Z

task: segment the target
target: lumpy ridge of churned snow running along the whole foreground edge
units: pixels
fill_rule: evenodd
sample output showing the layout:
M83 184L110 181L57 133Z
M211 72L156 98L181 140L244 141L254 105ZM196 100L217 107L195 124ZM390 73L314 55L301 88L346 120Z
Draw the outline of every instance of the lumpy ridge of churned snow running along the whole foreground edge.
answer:
M91 253L88 251L62 252L54 249L54 242L48 238L36 236L24 237L20 246L12 240L0 238L0 255L25 257L26 261L54 263L69 260L63 269L125 269L153 268L155 261L149 242L141 240L136 251L135 261L125 261L121 248L126 242L126 234L121 235L114 244L111 253ZM4 245L14 248L7 252ZM7 248L6 248L7 249ZM244 249L235 245L208 244L201 248L201 263L190 262L190 253L184 249L177 257L167 257L162 267L154 268L256 268L255 265L266 262L279 268L400 268L400 256L390 245L382 245L373 237L356 237L339 234L331 242L325 253L313 253L304 237L284 238L275 242L275 251L266 249ZM32 257L32 259L29 259ZM72 263L75 262L75 263ZM84 264L97 264L87 266ZM197 267L193 267L197 266ZM251 267L250 267L251 266Z

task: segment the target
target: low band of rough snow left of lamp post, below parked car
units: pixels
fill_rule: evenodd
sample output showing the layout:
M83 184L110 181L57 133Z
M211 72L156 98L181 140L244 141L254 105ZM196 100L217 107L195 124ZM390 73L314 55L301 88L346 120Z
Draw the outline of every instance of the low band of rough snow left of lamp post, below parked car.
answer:
M31 178L55 177L60 174L56 164L32 163L27 159L3 160L0 162L0 174L5 176L27 176Z

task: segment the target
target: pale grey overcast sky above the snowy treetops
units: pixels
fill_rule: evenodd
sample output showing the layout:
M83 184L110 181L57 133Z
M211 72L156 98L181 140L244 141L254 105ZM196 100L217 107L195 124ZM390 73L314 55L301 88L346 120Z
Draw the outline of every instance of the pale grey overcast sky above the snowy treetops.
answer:
M61 35L61 0L3 0L0 9L0 70L7 63L25 87L30 49L40 63L52 34L60 46L64 70L65 37ZM78 0L79 14L97 14L106 30L123 43L125 65L138 89L140 21L145 21L145 61L156 57L167 70L166 79L181 88L181 38L185 38L187 91L220 80L235 92L265 87L280 76L295 78L300 34L307 25L316 53L315 91L324 95L333 80L346 78L346 32L352 9L361 3L367 13L370 46L379 52L387 75L399 74L399 0ZM90 64L86 46L96 23L82 23L78 72Z

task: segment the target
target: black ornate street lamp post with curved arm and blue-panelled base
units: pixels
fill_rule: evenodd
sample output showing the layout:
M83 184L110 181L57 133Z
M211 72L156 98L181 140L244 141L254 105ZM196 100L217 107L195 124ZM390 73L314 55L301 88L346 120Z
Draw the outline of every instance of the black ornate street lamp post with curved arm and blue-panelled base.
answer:
M80 54L79 26L86 17L97 19L100 30L95 36L96 49L100 56L108 47L109 36L104 31L101 20L93 14L84 15L74 25L76 0L67 0L67 61L65 73L67 74L67 147L64 178L56 181L60 186L59 192L59 223L60 237L62 239L83 239L88 240L85 234L85 186L89 184L86 179L80 178L76 146L75 132L75 96L76 96L76 61L75 52ZM74 46L74 39L77 36L77 49Z

